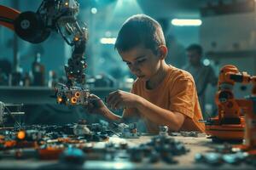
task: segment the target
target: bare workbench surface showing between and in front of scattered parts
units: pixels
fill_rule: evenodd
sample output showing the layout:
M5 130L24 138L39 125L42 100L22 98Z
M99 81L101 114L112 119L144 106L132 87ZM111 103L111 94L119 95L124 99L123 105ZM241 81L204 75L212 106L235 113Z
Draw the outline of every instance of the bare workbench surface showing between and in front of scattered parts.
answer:
M149 141L153 136L143 135L139 139L119 139L119 137L113 136L107 143L122 143L126 142L129 145L138 145ZM200 137L183 137L175 136L172 137L179 141L182 141L183 144L189 149L189 152L182 156L175 156L177 163L168 164L163 161L156 163L147 163L147 162L131 162L124 160L116 161L84 161L84 164L81 167L73 167L67 165L58 164L58 161L40 161L38 159L24 159L16 160L15 158L0 158L0 169L63 169L63 168L77 168L77 169L253 169L253 167L248 166L247 164L239 165L207 165L204 163L195 162L196 153L205 153L212 150L212 146L218 144L213 144L211 139L207 139L204 135ZM96 145L104 144L105 142L97 142Z

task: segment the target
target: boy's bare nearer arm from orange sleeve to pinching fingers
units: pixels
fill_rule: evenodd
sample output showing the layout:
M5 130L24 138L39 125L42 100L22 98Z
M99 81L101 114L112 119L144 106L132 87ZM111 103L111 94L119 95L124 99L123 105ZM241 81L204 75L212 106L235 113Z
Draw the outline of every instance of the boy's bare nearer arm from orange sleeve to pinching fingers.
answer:
M147 99L127 93L121 90L115 91L109 95L108 104L113 108L125 106L129 110L124 112L122 119L136 116L137 112L147 117L151 122L167 125L172 130L178 130L184 122L185 116L178 111L169 111L157 105L152 104Z

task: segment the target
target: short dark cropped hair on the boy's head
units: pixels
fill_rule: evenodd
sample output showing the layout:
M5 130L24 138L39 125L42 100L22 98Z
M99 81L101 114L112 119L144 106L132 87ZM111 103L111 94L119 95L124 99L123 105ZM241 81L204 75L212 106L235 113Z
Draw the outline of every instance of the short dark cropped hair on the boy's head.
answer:
M154 54L160 45L166 45L160 24L145 14L136 14L125 21L121 27L114 48L121 52L137 45L150 48Z

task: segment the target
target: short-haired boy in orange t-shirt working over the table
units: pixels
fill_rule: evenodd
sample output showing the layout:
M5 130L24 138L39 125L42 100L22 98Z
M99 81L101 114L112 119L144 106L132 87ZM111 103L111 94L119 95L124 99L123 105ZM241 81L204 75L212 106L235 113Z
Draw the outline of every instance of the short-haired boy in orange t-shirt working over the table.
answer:
M144 14L131 16L119 31L115 48L137 76L131 93L118 90L108 95L111 108L125 108L123 116L109 111L94 94L91 98L99 100L88 105L89 112L115 122L138 116L148 133L158 133L160 125L171 131L204 132L204 124L198 122L202 116L193 77L166 64L165 37L157 21Z

